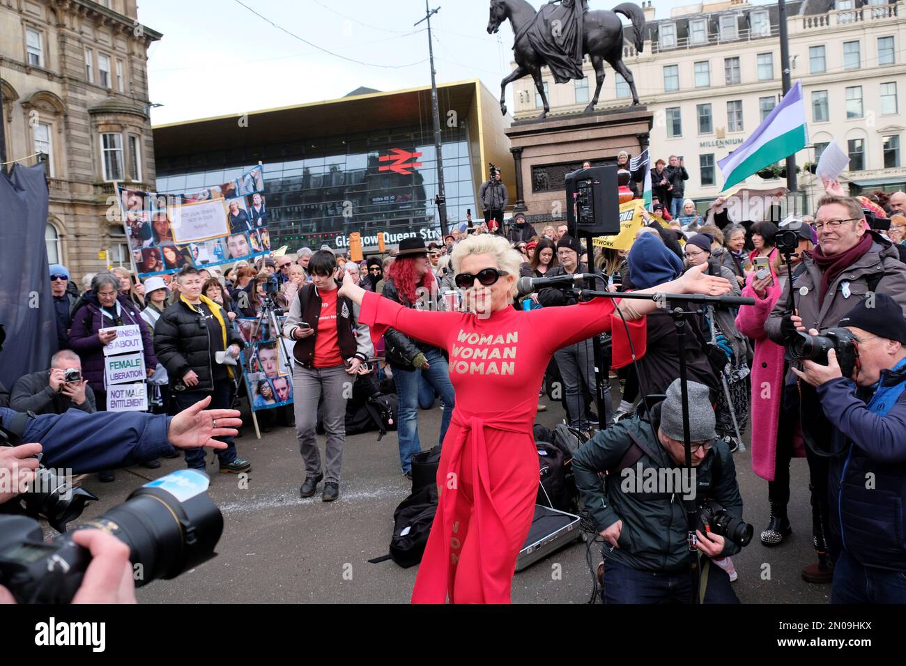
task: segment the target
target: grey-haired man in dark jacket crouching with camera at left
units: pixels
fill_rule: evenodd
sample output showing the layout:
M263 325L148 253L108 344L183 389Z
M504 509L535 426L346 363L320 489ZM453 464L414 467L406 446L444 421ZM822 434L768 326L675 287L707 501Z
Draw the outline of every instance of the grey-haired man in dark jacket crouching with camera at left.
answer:
M66 381L67 373L71 375ZM78 379L73 376L78 373ZM66 410L97 411L94 391L82 379L82 359L72 350L56 352L50 370L26 374L13 384L10 409L35 414L63 414Z

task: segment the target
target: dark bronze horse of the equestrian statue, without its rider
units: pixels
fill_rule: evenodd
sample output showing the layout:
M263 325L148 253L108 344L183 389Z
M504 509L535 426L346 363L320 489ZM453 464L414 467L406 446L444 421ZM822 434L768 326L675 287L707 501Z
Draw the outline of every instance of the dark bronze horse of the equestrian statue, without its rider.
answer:
M509 19L513 28L513 33L521 35L513 44L513 55L516 60L516 69L510 72L506 78L500 82L500 111L506 114L506 102L504 96L506 84L521 79L525 74L531 74L535 80L535 90L541 95L541 100L545 103L545 110L542 111L539 118L545 118L550 106L547 103L545 87L541 81L541 67L545 65L544 59L535 52L523 28L528 22L535 21L535 7L529 5L525 0L491 0L490 20L487 22L487 33L494 34L500 28L506 19ZM639 103L639 95L635 90L635 82L632 79L632 72L622 62L623 49L623 29L620 17L617 14L623 14L632 22L632 28L635 31L635 49L641 53L645 40L645 14L641 7L632 3L622 3L617 5L612 11L599 10L595 12L586 12L583 14L583 34L582 34L582 53L587 53L591 58L594 67L595 81L597 85L594 89L594 97L588 102L585 111L593 111L594 105L598 103L598 96L601 94L601 86L604 82L604 62L606 61L616 72L620 72L623 79L629 84L632 92L632 104Z

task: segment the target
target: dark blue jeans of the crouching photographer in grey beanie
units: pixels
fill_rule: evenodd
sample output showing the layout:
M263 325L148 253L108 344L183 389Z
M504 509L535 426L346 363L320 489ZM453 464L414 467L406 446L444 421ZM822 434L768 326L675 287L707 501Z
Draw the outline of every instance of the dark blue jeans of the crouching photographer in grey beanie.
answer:
M702 566L706 559L700 559ZM601 599L603 603L689 603L692 581L689 571L677 574L642 571L605 559ZM705 603L739 603L729 575L713 562L708 564Z

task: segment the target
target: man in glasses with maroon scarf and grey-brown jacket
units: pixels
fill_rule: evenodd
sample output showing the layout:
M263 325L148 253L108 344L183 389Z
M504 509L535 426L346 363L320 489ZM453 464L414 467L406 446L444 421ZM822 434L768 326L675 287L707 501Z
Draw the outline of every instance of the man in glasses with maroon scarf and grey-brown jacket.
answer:
M862 206L856 199L835 194L820 198L814 230L818 234L818 247L803 257L803 273L795 284L795 312L787 309L791 285L785 285L767 317L765 332L772 341L786 345L796 337L796 332L813 328L824 331L837 326L853 305L869 292L890 294L897 304L906 307L906 265L901 264L899 254L889 240L868 228ZM795 385L795 382L795 375L787 373L785 385ZM814 455L808 445L824 441L829 428L821 416L815 392L802 382L798 392L801 393L798 411L808 414L808 419L801 420L800 425L814 487L814 544L821 580L827 583L831 578L830 565L825 558L829 515L827 458ZM758 408L753 404L753 411Z

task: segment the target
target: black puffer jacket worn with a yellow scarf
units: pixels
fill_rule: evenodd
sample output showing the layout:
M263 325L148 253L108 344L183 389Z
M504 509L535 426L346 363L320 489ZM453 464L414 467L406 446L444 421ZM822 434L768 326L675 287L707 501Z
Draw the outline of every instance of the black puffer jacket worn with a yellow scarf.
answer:
M224 309L219 309L226 325L224 348L236 344L243 349L246 343L230 325ZM198 313L181 299L169 305L154 325L154 350L158 361L167 369L170 386L177 391L186 390L182 378L190 370L198 375L198 385L192 391L214 390L214 352L220 347L212 348L208 330L207 325L198 326Z

